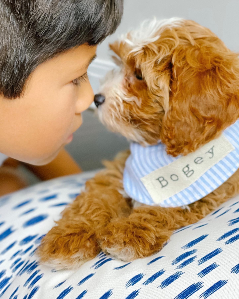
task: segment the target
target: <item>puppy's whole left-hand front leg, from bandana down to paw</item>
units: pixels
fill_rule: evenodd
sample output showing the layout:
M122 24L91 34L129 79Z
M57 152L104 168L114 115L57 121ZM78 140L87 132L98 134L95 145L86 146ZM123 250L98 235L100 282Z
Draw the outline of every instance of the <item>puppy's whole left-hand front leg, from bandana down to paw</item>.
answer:
M130 214L130 202L121 194L122 157L106 164L108 169L86 183L86 192L77 196L43 238L38 249L41 262L57 269L78 268L100 251L95 232L112 218Z

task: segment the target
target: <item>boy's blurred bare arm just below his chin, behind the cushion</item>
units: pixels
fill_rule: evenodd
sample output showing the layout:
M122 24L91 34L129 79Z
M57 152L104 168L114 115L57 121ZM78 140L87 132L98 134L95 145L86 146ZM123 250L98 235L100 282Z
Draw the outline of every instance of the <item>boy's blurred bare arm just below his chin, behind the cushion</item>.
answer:
M58 156L47 165L24 165L43 181L82 172L82 169L65 149L62 149Z

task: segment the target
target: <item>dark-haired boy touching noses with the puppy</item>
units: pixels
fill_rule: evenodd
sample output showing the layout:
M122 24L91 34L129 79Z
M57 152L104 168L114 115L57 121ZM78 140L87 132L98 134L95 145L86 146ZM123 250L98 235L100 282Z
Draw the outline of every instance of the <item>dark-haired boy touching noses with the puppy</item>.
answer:
M97 45L122 14L123 0L0 0L0 163L53 161L55 176L64 157L60 175L80 171L63 146L93 101L87 68ZM10 191L24 186L13 173L5 178L0 172L4 184L16 179Z

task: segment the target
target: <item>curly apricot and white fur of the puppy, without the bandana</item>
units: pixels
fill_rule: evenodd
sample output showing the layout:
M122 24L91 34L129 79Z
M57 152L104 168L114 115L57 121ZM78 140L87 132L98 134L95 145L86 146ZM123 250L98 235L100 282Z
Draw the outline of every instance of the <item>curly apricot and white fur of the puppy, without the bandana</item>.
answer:
M100 118L141 144L166 144L187 155L218 137L239 117L239 59L209 29L193 21L163 23L150 42L133 33L111 49L121 70L102 87ZM155 38L155 36L157 38ZM134 76L140 69L143 80ZM115 76L115 77L114 77ZM119 154L86 183L42 240L41 261L76 268L102 249L124 261L159 251L175 229L190 225L239 193L239 170L189 209L132 208L122 186L129 152Z

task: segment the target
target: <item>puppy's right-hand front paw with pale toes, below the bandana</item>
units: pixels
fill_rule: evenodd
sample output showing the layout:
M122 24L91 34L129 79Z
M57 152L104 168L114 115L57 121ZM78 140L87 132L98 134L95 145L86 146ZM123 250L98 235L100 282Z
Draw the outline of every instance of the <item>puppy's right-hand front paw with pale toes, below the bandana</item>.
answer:
M171 234L172 231L152 223L122 219L109 223L97 238L105 253L122 261L133 261L161 250Z

